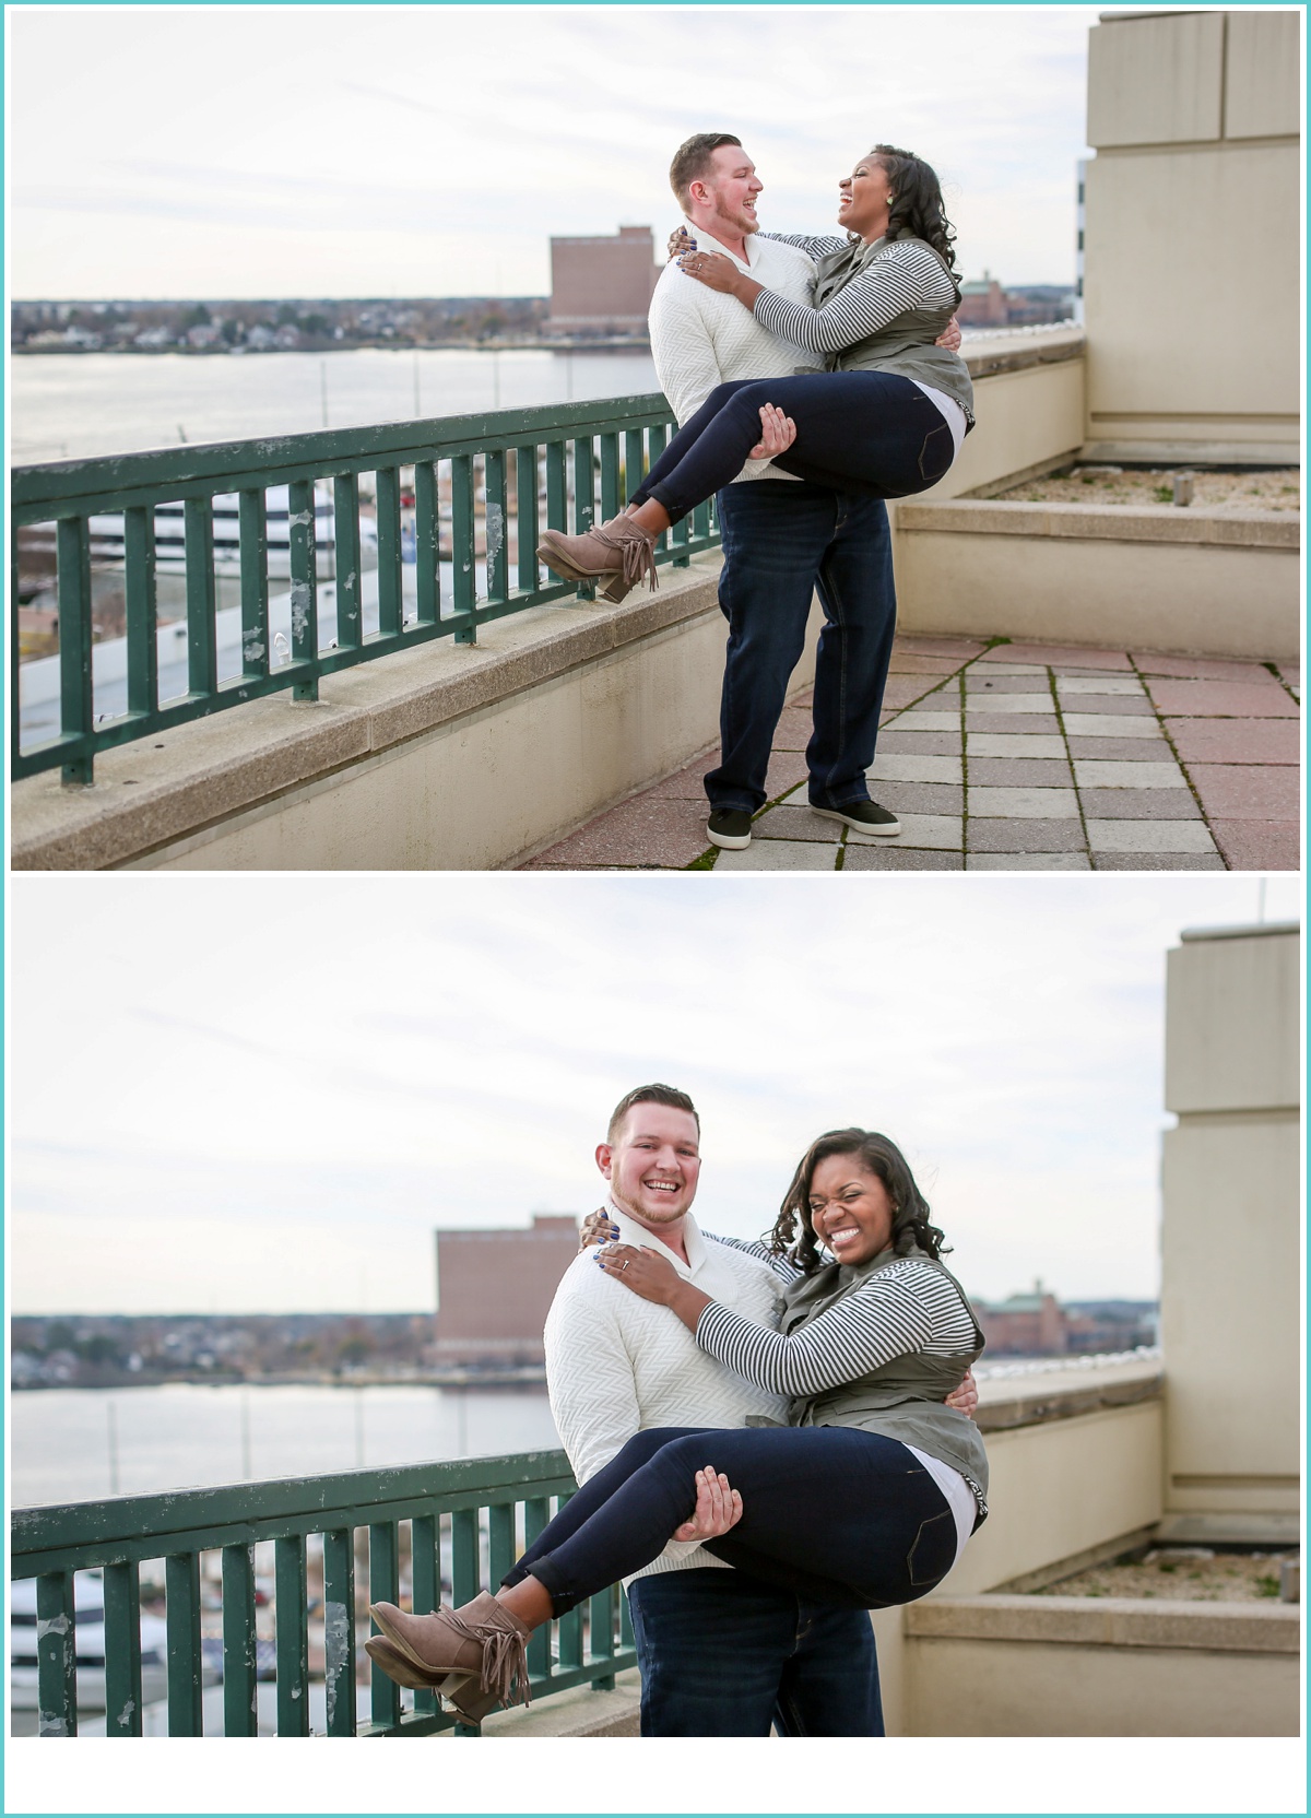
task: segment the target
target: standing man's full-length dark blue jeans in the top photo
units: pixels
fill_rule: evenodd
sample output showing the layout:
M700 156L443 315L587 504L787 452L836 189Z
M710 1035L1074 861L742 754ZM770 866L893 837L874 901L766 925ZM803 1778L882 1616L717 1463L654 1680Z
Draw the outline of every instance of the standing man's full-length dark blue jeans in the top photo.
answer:
M724 536L720 611L729 622L720 762L711 807L755 814L787 684L818 587L815 733L806 747L816 807L869 800L878 713L896 629L893 542L882 498L793 480L744 480L716 500Z

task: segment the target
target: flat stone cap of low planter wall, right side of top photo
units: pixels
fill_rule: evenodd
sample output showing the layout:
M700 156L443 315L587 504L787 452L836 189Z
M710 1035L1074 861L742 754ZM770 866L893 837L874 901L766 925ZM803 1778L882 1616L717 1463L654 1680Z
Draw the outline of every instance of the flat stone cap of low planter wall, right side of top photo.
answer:
M1078 536L1116 544L1220 544L1300 549L1302 520L1284 511L1196 511L1193 505L1031 505L1004 498L902 504L902 531L991 536Z

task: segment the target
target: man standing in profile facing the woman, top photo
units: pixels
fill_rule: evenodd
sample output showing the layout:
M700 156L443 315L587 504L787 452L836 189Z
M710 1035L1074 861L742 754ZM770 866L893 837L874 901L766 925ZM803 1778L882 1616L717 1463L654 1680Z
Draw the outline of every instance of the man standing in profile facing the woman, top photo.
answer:
M756 235L764 184L738 138L693 135L675 155L669 184L698 251L726 253L767 289L809 304L815 265L807 255ZM726 380L784 378L824 364L776 340L736 298L696 284L676 264L660 275L649 322L656 375L680 424ZM960 344L955 322L942 340ZM782 453L787 442L766 431L762 445ZM751 460L716 494L716 511L729 644L720 764L706 776L711 842L735 851L751 844L751 818L766 804L773 734L816 587L826 625L806 749L809 802L862 833L900 833L896 814L869 800L866 782L896 625L887 507Z

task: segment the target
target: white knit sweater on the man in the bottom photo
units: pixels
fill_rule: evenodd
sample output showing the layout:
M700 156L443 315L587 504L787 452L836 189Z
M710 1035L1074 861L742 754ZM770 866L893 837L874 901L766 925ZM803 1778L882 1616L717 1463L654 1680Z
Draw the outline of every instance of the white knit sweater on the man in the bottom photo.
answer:
M693 1218L684 1222L687 1262L682 1262L645 1225L613 1204L609 1211L620 1242L662 1249L684 1280L753 1325L776 1331L782 1284L769 1264L746 1249L707 1244ZM575 1256L545 1322L551 1413L580 1483L607 1465L635 1433L649 1427L744 1427L747 1414L787 1422L782 1394L753 1389L724 1369L667 1307L629 1293L598 1269L595 1258L595 1247ZM706 1463L713 1463L713 1454ZM698 1565L731 1569L684 1540L673 1542L635 1576Z

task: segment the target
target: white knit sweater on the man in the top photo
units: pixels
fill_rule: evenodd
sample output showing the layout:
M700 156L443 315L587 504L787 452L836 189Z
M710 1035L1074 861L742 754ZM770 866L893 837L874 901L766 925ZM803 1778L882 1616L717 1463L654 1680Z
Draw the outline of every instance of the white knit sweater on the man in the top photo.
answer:
M684 224L702 253L724 253L767 291L809 307L815 262L786 240L749 235L746 264L693 222ZM762 327L736 296L722 296L689 278L669 262L651 298L651 355L660 389L680 424L693 416L711 391L729 378L789 378L818 373L824 360L780 342ZM767 460L749 460L738 480L795 480ZM735 482L736 484L736 482Z

